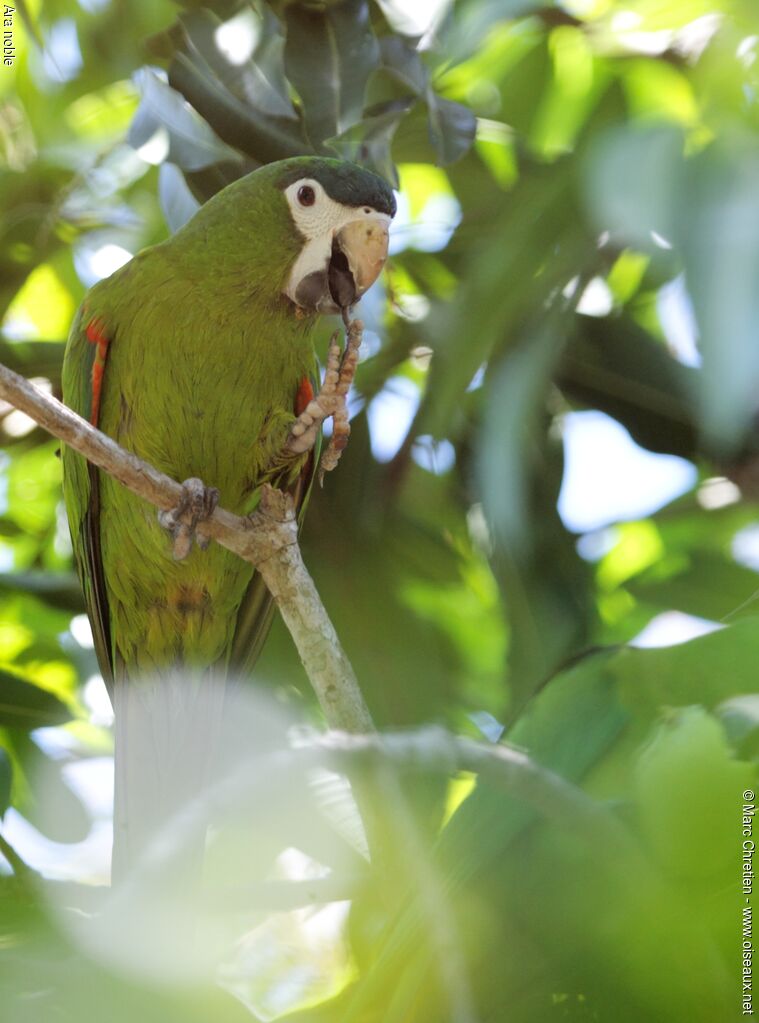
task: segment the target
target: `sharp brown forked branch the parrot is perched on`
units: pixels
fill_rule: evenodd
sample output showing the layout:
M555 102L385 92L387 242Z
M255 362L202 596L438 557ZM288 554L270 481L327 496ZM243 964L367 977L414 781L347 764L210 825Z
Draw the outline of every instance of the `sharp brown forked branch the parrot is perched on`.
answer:
M182 487L176 480L126 451L56 398L3 365L0 398L157 508L168 511L179 503ZM197 532L234 551L261 573L329 726L350 732L371 730L371 717L351 663L303 563L289 496L265 486L253 516L241 518L216 508L198 523Z

